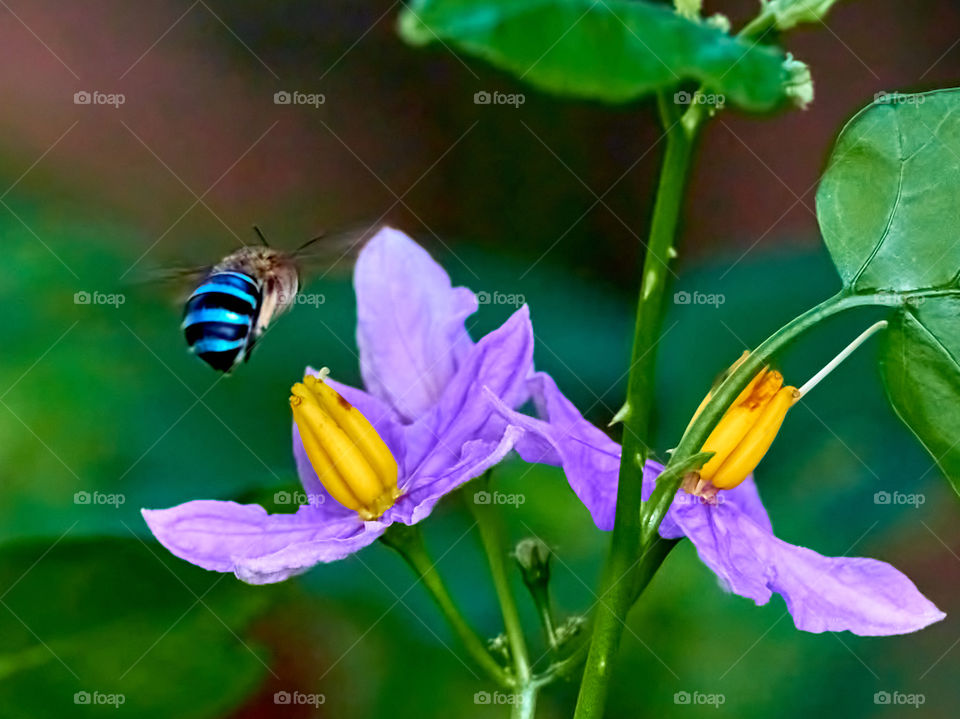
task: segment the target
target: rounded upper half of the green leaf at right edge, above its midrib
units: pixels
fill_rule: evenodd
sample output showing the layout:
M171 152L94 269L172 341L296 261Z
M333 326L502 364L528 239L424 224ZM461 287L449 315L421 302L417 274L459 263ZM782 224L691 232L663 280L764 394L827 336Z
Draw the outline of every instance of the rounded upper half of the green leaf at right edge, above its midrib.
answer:
M824 241L855 292L956 284L960 90L881 95L840 133L817 192Z

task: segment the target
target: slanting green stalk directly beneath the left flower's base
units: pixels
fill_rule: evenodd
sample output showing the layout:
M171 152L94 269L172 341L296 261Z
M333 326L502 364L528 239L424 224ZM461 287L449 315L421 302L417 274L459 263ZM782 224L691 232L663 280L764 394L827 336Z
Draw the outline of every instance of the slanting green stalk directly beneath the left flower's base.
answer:
M426 546L423 543L423 535L417 526L407 526L405 524L394 524L380 538L380 541L388 547L395 549L407 564L416 573L417 578L433 596L440 611L450 623L453 631L460 637L464 647L473 657L477 665L483 669L491 679L504 688L512 687L512 679L506 670L487 650L483 640L477 636L476 632L470 627L463 618L456 603L447 591L443 580L437 573L434 562L427 553Z

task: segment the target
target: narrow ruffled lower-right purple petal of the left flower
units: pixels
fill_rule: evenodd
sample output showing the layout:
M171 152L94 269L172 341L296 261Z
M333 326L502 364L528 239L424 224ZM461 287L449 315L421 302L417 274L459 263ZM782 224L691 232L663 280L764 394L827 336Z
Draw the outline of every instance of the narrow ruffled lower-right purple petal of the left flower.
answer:
M456 464L435 476L415 477L410 483L411 491L397 501L387 517L404 524L415 524L424 519L445 494L502 461L522 433L519 427L507 427L499 442L467 442Z

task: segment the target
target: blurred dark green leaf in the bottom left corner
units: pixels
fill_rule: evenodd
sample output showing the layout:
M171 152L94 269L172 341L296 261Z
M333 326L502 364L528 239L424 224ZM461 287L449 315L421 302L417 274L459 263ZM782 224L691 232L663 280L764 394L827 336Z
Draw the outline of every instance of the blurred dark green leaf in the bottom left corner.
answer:
M205 572L159 545L6 547L0 587L0 717L224 716L267 674L268 658L243 635L273 588ZM92 701L78 706L78 692ZM111 695L123 697L119 712Z

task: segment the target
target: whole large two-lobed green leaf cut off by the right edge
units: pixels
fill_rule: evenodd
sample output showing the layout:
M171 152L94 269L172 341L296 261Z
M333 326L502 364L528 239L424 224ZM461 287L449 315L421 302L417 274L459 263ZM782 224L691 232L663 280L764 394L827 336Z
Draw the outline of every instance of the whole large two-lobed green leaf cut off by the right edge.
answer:
M897 306L887 396L960 491L958 110L958 90L878 98L841 132L817 213L846 290Z

